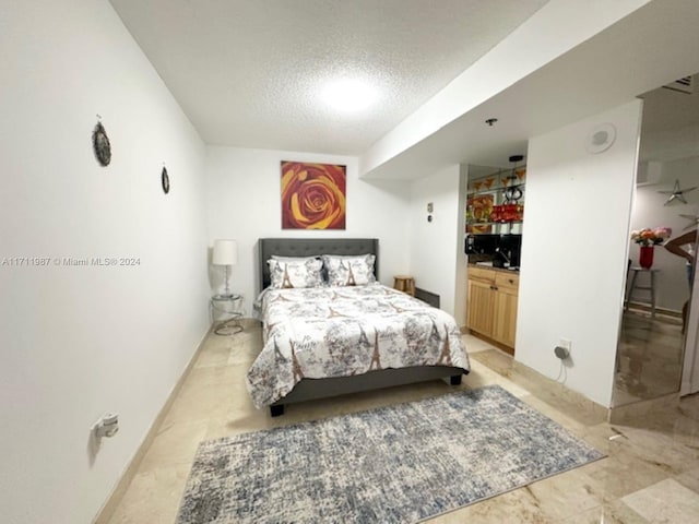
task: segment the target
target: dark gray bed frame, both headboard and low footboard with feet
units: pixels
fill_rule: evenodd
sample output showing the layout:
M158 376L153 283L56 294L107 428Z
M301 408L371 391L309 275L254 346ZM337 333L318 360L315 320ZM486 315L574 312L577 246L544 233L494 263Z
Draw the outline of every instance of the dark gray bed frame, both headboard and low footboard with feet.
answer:
M258 264L260 290L270 285L270 269L266 261L271 255L316 257L321 254L366 254L376 255L375 272L379 278L379 240L376 238L260 238L258 240ZM462 368L451 366L420 366L401 369L382 369L352 377L331 379L303 379L284 398L270 406L273 417L284 414L284 405L331 396L359 393L363 391L392 388L395 385L450 379L452 385L461 383Z

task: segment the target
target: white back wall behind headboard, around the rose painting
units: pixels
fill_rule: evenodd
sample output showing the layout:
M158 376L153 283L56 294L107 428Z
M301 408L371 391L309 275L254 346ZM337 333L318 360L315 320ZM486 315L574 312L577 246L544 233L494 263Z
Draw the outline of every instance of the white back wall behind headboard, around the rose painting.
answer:
M282 160L347 166L345 230L282 230ZM248 314L258 293L258 238L378 238L379 279L392 286L393 275L410 270L410 186L360 180L356 157L211 146L208 147L206 177L210 245L216 238L238 241L238 264L233 267L230 287L244 296ZM213 289L221 286L221 275L217 269L212 270Z

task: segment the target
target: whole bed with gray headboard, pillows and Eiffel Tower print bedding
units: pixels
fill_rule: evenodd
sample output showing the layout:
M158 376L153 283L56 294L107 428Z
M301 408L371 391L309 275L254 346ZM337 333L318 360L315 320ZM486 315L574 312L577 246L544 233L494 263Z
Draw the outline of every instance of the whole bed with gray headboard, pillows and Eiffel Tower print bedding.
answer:
M457 385L469 373L452 317L371 282L377 239L261 238L258 248L263 348L247 376L257 407L279 416L286 404L436 379ZM299 285L291 271L292 282L289 267L304 278L320 270L322 283Z

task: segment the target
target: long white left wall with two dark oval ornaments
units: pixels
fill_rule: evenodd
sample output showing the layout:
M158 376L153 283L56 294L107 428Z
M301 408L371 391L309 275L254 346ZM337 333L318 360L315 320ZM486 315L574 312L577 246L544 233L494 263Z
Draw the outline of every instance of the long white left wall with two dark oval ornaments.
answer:
M1 520L86 523L209 326L205 151L106 0L3 2L0 21ZM91 449L106 412L121 430Z

